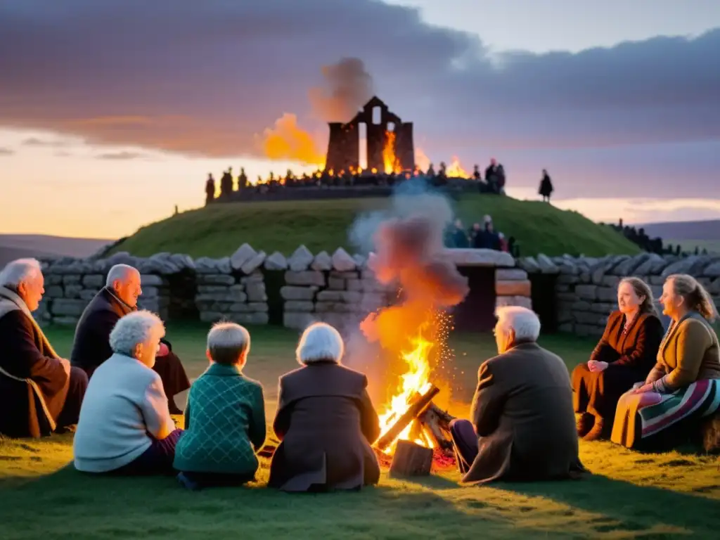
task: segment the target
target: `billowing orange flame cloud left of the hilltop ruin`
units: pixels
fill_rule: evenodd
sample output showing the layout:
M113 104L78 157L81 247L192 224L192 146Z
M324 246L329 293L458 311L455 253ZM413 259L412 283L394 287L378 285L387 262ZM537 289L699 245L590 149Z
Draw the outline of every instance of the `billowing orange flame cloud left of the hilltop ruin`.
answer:
M309 132L297 125L297 116L288 112L275 121L263 134L263 150L270 159L298 161L303 165L325 168L325 156Z

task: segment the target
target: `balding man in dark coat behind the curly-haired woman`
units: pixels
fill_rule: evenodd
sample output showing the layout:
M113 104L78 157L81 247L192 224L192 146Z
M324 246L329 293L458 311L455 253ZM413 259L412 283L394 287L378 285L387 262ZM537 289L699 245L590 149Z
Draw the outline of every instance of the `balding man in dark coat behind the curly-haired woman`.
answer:
M112 355L110 331L123 315L138 309L138 297L141 294L143 289L140 287L140 272L137 269L127 264L116 264L110 269L105 287L85 307L78 321L70 355L73 366L81 367L92 377L97 366ZM170 412L182 414L173 398L187 390L190 381L180 359L166 340L161 343L153 369L163 380Z

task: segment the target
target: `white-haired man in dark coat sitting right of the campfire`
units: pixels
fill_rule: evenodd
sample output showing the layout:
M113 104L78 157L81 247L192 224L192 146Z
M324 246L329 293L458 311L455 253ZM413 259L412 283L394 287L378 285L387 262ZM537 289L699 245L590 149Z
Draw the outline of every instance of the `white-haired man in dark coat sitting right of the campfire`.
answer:
M539 346L540 320L525 307L499 307L498 356L480 366L471 420L453 420L462 482L559 480L582 472L570 375Z

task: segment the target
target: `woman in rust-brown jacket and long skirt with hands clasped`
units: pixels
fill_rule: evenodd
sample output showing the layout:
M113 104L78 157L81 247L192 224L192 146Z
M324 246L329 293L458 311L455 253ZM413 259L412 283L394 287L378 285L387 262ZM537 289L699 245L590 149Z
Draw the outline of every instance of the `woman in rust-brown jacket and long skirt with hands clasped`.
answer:
M627 277L618 284L618 307L590 360L572 370L577 434L587 441L609 434L620 396L645 380L662 341L652 291L642 279Z

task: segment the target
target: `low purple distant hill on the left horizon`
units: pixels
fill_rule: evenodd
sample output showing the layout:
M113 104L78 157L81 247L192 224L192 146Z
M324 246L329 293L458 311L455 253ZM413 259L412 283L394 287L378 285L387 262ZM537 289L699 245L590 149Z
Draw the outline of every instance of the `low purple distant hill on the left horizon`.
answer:
M113 240L0 234L0 268L23 257L87 257Z

